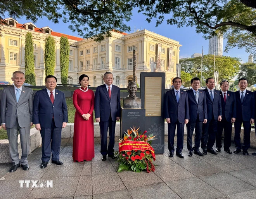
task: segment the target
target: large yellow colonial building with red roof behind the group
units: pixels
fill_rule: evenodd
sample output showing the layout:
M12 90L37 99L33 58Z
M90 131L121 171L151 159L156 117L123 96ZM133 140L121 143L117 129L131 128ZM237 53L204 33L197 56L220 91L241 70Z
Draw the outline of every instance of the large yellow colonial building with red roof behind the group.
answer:
M140 72L165 72L166 88L176 77L176 63L179 63L180 44L151 31L142 30L126 34L112 31L112 36L104 41L83 39L54 32L50 27L38 28L29 22L19 24L12 18L5 19L10 27L2 29L0 81L11 81L12 72L24 71L24 48L26 33L31 32L34 43L36 84L43 85L45 38L51 35L55 39L56 60L55 76L61 84L60 38L67 36L70 43L68 84L78 84L78 77L86 74L93 87L103 84L103 74L107 71L114 75L114 83L127 87L133 77L133 50L137 56L137 83L140 84Z

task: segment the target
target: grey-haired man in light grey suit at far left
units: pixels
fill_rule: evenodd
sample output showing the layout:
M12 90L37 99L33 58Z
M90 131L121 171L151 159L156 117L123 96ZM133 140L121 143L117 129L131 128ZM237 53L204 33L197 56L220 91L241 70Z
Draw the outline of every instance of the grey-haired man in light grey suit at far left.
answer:
M22 86L25 75L21 71L12 74L14 86L5 87L1 96L2 127L7 130L9 139L10 158L13 166L10 172L15 172L22 166L23 170L29 170L29 135L33 125L33 90ZM21 138L22 155L19 159L18 132Z

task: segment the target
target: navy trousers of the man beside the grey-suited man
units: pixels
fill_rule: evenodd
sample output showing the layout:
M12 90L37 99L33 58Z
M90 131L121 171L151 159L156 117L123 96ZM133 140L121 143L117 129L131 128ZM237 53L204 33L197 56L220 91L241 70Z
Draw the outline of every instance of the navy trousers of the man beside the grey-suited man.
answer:
M51 157L52 160L59 160L60 147L61 147L61 129L62 127L56 127L54 119L50 128L42 128L40 130L42 137L42 161L48 162Z

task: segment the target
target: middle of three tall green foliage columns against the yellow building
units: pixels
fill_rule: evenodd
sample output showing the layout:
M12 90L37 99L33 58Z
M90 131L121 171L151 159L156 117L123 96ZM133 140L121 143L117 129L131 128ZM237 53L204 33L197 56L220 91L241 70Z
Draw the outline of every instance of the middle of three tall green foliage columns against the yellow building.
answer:
M55 41L48 36L45 38L45 76L54 75L55 69Z

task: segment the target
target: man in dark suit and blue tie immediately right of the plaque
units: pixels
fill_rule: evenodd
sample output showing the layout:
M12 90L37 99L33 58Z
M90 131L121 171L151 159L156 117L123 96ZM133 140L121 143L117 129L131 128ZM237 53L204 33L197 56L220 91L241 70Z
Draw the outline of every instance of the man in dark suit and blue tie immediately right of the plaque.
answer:
M176 155L184 158L182 155L184 123L189 122L189 102L185 91L180 90L182 79L175 77L173 79L173 89L167 91L164 96L164 118L168 123L168 149L169 157L173 157L174 136L177 126L177 148Z

